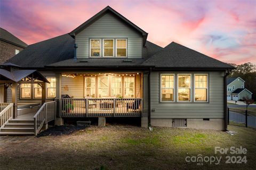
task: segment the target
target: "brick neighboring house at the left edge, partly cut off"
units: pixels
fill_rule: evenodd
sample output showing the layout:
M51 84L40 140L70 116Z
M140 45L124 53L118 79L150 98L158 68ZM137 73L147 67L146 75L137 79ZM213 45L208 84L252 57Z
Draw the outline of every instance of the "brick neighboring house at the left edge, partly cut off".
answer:
M0 28L0 64L21 52L28 45L12 33Z

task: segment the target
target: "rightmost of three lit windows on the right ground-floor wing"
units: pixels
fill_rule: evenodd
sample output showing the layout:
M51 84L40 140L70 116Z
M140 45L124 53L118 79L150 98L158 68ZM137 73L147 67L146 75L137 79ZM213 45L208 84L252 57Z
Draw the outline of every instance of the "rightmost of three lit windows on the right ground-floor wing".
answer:
M207 101L208 75L195 74L195 101Z

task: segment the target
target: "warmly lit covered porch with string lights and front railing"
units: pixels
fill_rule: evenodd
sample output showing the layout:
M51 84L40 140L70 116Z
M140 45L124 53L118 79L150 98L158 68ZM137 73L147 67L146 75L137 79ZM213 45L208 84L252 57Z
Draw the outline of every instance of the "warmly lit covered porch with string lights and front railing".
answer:
M142 73L61 73L60 87L60 117L141 116Z

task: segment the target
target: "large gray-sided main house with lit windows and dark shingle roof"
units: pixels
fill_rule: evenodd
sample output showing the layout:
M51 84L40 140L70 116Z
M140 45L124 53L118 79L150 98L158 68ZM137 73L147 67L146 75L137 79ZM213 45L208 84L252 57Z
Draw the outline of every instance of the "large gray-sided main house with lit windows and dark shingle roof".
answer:
M70 33L29 45L8 62L47 78L44 95L58 101L60 122L139 117L142 127L224 130L226 77L234 67L178 43L159 47L147 36L107 6ZM40 103L42 88L21 84L18 94L19 103ZM61 98L66 95L72 98Z

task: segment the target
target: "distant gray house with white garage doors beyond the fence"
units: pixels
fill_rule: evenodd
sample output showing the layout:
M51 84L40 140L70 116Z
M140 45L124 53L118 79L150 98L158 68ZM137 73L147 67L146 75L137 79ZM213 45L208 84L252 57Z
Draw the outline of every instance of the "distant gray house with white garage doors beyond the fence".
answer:
M252 92L244 86L245 81L241 78L227 79L227 100L242 100L244 97L252 98Z

